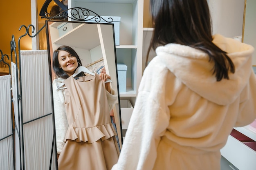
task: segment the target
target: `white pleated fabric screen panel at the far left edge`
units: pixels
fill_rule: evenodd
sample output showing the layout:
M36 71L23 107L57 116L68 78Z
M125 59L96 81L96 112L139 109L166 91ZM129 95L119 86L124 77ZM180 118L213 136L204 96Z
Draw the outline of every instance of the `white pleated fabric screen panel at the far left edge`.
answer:
M0 170L13 170L11 75L0 76Z

